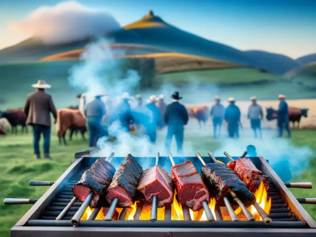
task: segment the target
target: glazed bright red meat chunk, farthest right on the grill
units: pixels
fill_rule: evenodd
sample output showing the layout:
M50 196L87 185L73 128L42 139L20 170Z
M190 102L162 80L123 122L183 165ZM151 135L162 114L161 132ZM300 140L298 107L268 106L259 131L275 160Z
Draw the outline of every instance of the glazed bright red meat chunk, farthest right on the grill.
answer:
M263 175L248 158L238 158L234 171L251 192L257 191L261 182L266 188L269 187L269 177Z

